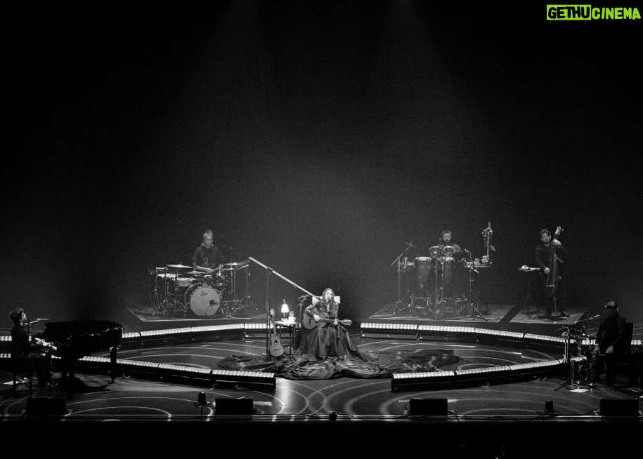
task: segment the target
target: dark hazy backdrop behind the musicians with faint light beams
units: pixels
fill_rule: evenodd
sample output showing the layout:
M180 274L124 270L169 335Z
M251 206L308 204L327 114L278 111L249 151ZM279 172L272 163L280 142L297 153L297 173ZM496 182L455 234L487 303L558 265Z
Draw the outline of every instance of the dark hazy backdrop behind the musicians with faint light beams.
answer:
M517 268L560 225L569 307L616 299L643 321L641 20L227 1L3 22L7 314L109 319L211 227L226 255L335 288L360 321L396 300L403 241L449 228L479 257L491 222L483 301L523 301ZM265 281L253 264L260 307ZM304 293L270 285L275 307Z

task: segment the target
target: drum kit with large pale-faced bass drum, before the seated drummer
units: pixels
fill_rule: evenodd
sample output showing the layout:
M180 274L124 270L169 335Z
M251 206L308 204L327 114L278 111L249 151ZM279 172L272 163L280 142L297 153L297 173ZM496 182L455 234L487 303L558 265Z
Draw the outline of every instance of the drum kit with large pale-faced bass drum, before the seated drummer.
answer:
M153 315L232 316L252 307L248 295L249 260L219 266L211 274L178 263L148 270ZM245 295L237 297L237 281L245 274Z

